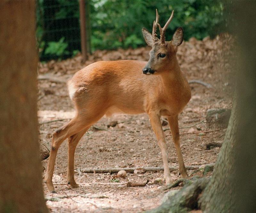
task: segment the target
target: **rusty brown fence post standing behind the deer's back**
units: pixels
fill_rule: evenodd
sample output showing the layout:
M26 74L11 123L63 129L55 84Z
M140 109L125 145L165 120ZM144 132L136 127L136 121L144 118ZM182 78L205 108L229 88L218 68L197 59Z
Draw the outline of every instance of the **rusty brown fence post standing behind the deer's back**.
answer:
M85 0L79 0L79 12L80 12L80 35L81 35L81 50L83 56L83 62L87 59L87 44L86 44L86 18L85 18Z

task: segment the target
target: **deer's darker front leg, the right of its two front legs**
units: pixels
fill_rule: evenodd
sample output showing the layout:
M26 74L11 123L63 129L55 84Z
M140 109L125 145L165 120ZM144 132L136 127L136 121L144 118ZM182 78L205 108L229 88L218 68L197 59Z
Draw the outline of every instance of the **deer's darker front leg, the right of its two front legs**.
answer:
M183 178L188 177L188 173L183 161L181 149L180 149L180 132L179 132L179 123L178 123L178 115L168 116L168 122L170 125L172 139L176 148L176 153L179 161L179 171Z

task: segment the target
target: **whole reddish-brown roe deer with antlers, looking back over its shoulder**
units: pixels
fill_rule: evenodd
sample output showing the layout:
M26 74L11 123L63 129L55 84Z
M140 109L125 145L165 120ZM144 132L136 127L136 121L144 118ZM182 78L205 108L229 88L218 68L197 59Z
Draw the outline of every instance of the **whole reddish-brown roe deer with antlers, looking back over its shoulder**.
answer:
M190 100L191 91L176 57L177 47L183 41L182 27L175 31L172 41L165 41L165 31L172 17L173 11L162 28L158 24L159 16L156 10L152 34L145 28L142 29L145 41L152 47L148 62L99 61L76 72L68 81L69 95L74 102L76 116L52 135L52 148L45 176L45 182L51 192L55 192L52 175L60 144L68 138L67 181L72 187L78 187L74 179L76 145L92 124L103 115L115 112L148 114L161 149L166 184L171 182L171 175L160 118L167 116L179 160L180 174L184 178L188 177L180 149L178 114ZM156 35L157 26L160 39Z

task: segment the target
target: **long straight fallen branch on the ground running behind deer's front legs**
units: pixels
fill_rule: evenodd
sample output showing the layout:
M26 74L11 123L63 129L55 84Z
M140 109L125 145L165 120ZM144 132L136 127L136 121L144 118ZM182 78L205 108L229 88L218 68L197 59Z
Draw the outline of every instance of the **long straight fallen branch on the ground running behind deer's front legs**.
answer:
M195 166L186 166L187 170L194 170L194 169L198 169L200 166L204 166L207 164L203 164L203 165L195 165ZM178 167L178 165L176 166ZM169 167L170 171L176 171L179 168L176 167ZM118 173L118 171L124 170L128 173L134 173L134 170L138 170L138 169L143 169L145 172L147 171L164 171L164 167L163 166L156 166L156 167L142 167L142 168L135 168L135 167L127 167L127 168L84 168L81 169L82 173Z

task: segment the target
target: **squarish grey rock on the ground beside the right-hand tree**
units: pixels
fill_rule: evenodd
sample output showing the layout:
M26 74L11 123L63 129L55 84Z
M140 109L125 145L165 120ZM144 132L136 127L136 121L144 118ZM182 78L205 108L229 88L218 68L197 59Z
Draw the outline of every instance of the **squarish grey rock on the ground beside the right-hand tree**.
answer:
M209 109L206 111L207 128L227 128L231 115L230 109Z

